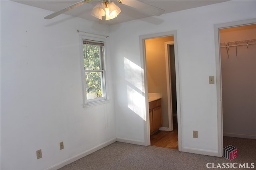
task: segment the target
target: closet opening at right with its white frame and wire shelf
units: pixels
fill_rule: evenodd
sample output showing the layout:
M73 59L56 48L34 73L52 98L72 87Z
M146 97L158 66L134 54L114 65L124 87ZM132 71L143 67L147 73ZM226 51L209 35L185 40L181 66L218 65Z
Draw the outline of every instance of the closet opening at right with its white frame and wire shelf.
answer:
M214 25L220 157L224 147L236 147L235 141L246 143L256 139L255 21ZM241 146L239 143L237 146Z

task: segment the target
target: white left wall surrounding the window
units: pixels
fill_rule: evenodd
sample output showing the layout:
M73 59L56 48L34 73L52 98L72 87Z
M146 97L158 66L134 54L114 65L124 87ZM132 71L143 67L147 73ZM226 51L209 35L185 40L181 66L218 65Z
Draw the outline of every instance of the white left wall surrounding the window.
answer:
M48 14L1 1L1 169L58 167L116 140L111 74L110 102L83 108L77 33L107 35L109 26ZM106 62L110 72L109 53Z

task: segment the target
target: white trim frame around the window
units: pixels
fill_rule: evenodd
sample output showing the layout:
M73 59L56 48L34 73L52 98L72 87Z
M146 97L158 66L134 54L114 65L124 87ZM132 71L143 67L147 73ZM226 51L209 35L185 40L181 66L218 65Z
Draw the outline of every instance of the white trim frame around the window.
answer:
M85 77L84 77L84 53L83 53L83 39L88 39L88 40L94 40L94 41L102 41L104 42L104 90L105 90L105 97L102 98L96 98L96 99L91 99L90 102L86 99L86 83L85 83ZM83 107L90 107L90 106L95 106L95 105L100 105L100 104L105 104L109 103L110 100L108 99L108 88L106 85L106 39L103 38L97 38L97 37L91 37L91 36L86 36L86 35L79 35L79 45L80 45L80 66L81 66L81 77L82 77L82 93L83 93Z

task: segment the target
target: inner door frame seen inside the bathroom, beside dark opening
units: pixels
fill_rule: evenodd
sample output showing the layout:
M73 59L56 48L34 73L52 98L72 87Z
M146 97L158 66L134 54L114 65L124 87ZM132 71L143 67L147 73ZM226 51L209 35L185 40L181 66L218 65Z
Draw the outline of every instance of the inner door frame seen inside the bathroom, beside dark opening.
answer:
M172 83L171 83L171 68L170 68L170 49L169 45L174 45L174 41L164 42L165 50L165 66L166 66L166 82L167 82L167 102L168 102L168 121L169 131L173 131L173 118L172 118Z

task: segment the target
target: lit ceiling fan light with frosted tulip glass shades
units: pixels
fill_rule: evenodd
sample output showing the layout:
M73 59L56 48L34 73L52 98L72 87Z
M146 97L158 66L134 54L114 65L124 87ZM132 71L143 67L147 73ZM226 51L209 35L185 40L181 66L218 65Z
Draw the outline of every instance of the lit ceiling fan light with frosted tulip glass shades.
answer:
M100 1L92 9L92 16L102 20L102 16L106 16L106 20L116 18L121 10L114 2L108 0Z

